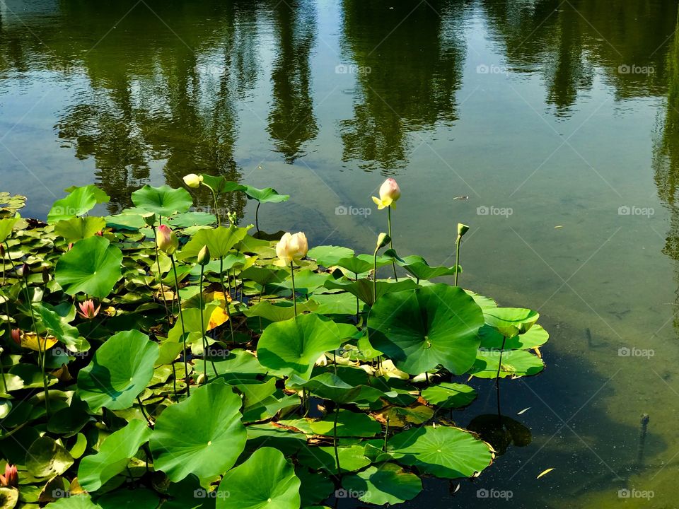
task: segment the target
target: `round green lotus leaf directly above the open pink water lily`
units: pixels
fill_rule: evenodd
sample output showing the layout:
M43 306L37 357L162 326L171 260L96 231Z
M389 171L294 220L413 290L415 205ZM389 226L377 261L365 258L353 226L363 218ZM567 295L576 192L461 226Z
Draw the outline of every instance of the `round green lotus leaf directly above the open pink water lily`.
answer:
M103 237L79 240L62 254L54 274L57 283L69 295L86 293L105 298L120 279L122 252Z

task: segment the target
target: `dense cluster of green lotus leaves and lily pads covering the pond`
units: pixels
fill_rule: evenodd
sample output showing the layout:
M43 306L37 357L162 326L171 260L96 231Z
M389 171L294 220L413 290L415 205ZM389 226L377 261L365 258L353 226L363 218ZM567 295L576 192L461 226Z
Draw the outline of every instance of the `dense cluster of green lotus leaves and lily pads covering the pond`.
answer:
M221 180L199 182L287 199ZM451 285L459 267L337 246L279 267L276 240L218 226L186 189L145 186L106 217L97 187L67 193L47 223L4 198L0 508L395 505L494 461L453 419L470 380L545 366L538 314Z

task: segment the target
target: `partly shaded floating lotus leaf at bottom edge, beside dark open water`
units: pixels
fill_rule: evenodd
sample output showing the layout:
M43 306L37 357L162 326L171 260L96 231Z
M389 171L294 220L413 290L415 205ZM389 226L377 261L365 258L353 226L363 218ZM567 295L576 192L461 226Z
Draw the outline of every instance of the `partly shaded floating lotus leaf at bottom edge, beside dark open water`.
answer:
M422 481L393 463L369 467L342 479L347 496L375 505L397 504L415 498L422 491Z

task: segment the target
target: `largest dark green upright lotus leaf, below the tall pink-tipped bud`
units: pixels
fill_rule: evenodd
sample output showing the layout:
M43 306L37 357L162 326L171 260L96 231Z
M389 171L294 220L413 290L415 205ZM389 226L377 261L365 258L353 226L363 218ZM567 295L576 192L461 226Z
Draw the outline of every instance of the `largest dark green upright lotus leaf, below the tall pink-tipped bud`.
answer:
M368 317L368 340L411 375L439 364L461 375L475 361L482 325L481 308L462 288L436 284L378 299Z

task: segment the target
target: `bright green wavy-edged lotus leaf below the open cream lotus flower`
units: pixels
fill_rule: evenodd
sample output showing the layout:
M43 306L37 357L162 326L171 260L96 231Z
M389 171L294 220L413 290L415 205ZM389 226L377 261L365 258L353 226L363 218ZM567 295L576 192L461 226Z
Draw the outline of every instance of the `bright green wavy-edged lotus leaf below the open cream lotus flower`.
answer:
M257 343L257 358L274 373L308 380L320 354L337 349L342 339L335 322L301 315L270 324Z

